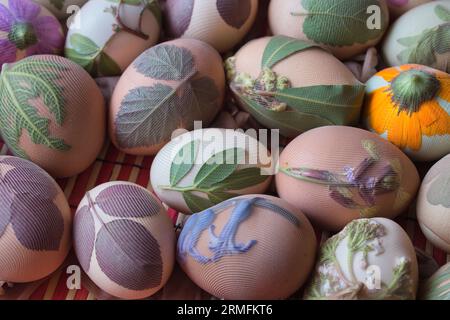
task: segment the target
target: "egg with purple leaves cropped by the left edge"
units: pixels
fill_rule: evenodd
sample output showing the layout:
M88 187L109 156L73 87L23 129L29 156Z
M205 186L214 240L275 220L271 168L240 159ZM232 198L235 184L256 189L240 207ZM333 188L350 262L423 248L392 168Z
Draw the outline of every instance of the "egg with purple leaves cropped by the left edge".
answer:
M0 287L54 272L71 246L72 214L58 184L34 163L0 156Z

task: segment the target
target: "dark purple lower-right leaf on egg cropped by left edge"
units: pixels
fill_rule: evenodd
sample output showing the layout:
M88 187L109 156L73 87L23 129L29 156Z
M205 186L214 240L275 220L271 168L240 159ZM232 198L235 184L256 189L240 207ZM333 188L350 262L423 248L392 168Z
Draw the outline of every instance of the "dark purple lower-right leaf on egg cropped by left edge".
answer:
M16 194L11 207L11 223L19 242L27 249L59 249L64 220L52 200L33 194Z

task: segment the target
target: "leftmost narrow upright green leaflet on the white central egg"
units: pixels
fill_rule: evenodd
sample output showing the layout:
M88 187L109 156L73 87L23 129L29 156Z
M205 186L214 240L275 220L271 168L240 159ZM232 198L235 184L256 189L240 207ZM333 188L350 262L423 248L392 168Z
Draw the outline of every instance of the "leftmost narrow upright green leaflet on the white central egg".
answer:
M178 151L170 166L170 185L176 186L191 171L200 141L193 140Z

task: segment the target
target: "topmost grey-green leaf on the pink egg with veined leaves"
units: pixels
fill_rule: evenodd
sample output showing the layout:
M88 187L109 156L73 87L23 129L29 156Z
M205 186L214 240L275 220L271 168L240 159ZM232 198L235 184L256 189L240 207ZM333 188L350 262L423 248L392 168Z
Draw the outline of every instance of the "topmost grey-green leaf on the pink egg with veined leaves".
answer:
M145 51L135 60L134 67L146 77L157 80L181 81L197 72L192 53L169 44Z

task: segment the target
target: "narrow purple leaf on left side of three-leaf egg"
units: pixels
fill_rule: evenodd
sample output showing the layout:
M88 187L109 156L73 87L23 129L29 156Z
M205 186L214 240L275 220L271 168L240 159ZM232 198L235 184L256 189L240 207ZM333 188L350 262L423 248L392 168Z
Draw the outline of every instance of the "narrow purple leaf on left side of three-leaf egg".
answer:
M73 238L73 245L81 267L85 272L88 272L91 267L95 241L94 218L88 206L81 207L75 214Z

